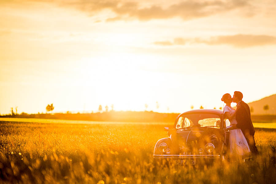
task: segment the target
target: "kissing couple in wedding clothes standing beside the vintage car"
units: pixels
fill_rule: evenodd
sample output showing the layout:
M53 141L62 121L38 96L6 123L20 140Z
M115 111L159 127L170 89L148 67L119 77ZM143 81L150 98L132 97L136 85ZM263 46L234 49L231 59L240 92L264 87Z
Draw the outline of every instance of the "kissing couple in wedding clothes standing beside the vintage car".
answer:
M251 121L249 106L242 101L243 94L235 91L233 98L229 93L222 96L221 101L226 103L223 109L225 118L230 121L229 149L231 155L243 156L248 153L258 154L255 144L255 130ZM231 107L231 103L237 104L237 109Z

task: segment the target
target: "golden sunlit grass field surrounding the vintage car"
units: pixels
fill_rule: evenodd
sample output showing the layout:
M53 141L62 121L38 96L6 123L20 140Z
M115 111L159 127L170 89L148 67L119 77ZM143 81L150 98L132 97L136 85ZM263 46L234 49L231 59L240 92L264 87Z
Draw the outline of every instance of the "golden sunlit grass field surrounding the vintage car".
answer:
M250 162L177 167L152 158L171 124L6 120L0 120L0 183L276 182L274 123L255 124L260 155Z

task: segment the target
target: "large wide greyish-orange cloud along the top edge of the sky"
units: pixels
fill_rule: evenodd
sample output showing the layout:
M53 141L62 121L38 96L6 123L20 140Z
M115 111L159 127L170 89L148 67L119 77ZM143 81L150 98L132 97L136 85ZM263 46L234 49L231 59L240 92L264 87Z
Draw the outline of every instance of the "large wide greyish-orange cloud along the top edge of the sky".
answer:
M72 6L72 3L65 3ZM229 1L184 1L172 4L167 8L152 4L148 7L140 7L137 2L121 2L121 1L80 1L73 4L79 10L85 12L100 11L110 9L117 14L116 21L125 18L136 18L142 21L151 19L167 19L172 17L181 17L183 20L205 17L212 14L250 6L245 0L229 0Z

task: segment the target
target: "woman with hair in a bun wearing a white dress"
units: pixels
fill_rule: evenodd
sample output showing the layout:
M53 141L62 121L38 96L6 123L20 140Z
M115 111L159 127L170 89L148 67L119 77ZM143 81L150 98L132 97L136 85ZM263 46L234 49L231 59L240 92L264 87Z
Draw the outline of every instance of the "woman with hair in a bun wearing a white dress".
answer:
M236 128L236 110L231 107L231 103L233 102L232 97L229 93L226 93L222 96L221 101L226 103L223 109L223 113L225 115L225 118L228 118L228 120L230 121L230 125L232 125L233 127L233 129L230 130L229 135L230 154L233 156L246 155L250 152L250 149L243 135L243 132L240 128Z

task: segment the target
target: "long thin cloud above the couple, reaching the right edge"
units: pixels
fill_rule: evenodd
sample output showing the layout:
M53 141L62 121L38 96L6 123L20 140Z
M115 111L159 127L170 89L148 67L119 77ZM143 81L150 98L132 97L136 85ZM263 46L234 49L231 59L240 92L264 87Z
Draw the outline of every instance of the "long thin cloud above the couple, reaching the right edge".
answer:
M163 43L163 44L162 44ZM171 43L171 44L166 44ZM276 44L275 36L268 35L245 35L237 34L230 36L213 36L209 39L202 38L193 38L193 39L184 39L184 38L175 38L173 42L162 41L154 42L156 45L170 46L170 45L186 45L186 44L207 44L207 45L231 45L238 48L247 48L254 46L263 46L263 45L272 45Z

